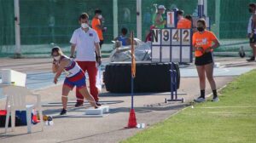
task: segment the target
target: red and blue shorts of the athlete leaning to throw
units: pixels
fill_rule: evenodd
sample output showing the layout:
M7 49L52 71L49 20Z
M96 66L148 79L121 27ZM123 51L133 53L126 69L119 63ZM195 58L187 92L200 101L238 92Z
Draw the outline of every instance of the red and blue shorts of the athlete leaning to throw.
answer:
M66 77L63 85L68 86L70 89L73 89L74 86L78 89L86 87L84 72L80 71L73 77Z

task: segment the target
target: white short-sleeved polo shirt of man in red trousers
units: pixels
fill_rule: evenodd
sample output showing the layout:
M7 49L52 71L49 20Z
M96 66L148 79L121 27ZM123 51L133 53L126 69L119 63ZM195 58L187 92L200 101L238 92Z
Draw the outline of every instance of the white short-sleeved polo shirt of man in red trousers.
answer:
M96 61L95 43L100 43L100 39L94 29L89 28L87 32L82 28L73 31L70 43L76 44L77 61Z

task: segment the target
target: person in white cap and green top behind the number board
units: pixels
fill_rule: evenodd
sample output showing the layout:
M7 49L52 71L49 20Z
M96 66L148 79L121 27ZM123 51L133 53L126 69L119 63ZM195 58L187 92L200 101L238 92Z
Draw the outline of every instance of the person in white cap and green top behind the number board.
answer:
M162 14L165 14L165 6L159 5L157 12L153 18L153 25L157 28L165 28L166 26L166 20L163 19Z

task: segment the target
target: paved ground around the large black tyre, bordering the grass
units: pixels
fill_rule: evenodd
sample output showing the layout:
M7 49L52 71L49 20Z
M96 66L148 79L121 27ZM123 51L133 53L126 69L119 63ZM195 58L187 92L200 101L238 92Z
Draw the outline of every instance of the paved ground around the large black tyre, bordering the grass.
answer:
M247 63L244 59L216 58L216 61L220 63L220 67L216 68L218 75L215 77L218 89L230 83L234 77L256 68L256 62ZM42 86L38 91L44 104L44 114L60 112L61 85L55 86L51 83L51 62L49 59L0 59L0 62L0 69L12 68L19 72L28 73L27 85L31 89ZM108 59L104 59L104 62L107 63ZM195 75L195 66L181 66L181 75L181 86L178 92L186 93L179 95L180 98L185 98L185 103L164 103L164 99L169 98L170 93L137 94L134 103L137 123L146 123L146 128L148 128L188 106L189 102L199 95L199 82ZM193 83L193 86L191 86L191 83ZM33 87L35 84L38 85ZM207 94L211 93L209 87L207 83ZM9 132L9 134L1 134L4 129L0 128L0 142L114 143L125 140L142 130L124 129L128 122L131 106L130 94L111 94L103 89L100 97L103 104L110 106L110 114L107 117L55 117L53 126L45 126L44 132L40 132L39 126L35 125L32 127L32 134L26 134L26 127L17 127L15 132ZM0 103L0 109L2 109L3 102ZM73 107L74 103L74 92L71 92L68 112L72 114L84 111L84 107ZM86 107L88 104L84 105Z

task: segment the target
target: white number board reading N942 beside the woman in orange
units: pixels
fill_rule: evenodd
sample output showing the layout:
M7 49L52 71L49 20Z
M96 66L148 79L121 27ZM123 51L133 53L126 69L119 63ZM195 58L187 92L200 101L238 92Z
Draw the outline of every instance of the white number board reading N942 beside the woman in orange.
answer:
M191 29L153 29L152 62L192 62Z

